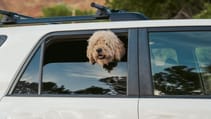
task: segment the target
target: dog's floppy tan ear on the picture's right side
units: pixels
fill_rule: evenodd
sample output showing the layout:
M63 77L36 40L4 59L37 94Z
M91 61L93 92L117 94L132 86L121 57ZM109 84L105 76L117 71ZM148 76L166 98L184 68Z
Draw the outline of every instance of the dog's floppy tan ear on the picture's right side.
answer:
M125 55L125 47L121 40L119 40L119 44L116 45L114 58L116 61L120 61L121 58Z

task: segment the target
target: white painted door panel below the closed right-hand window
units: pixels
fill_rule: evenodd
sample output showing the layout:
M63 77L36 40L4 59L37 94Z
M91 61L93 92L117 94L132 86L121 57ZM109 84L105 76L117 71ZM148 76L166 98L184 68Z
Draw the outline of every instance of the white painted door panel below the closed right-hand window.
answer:
M140 98L140 119L210 119L211 100L199 98Z

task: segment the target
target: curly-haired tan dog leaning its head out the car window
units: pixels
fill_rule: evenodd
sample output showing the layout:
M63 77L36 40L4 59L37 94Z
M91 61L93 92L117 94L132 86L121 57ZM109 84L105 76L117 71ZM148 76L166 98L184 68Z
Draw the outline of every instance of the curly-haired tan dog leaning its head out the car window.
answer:
M92 64L98 63L108 72L117 66L125 54L124 44L111 31L96 31L88 40L87 57Z

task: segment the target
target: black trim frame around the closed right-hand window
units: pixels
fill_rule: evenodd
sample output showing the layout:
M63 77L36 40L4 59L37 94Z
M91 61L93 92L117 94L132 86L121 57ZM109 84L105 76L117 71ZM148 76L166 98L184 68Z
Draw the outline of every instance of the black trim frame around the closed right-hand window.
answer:
M144 30L143 30L144 29ZM147 41L147 49L148 54L142 55L145 57L148 57L150 61L150 55L149 55L149 44L148 44L148 36L150 32L187 32L187 31L211 31L211 26L175 26L175 27L151 27L151 28L143 28L142 30L145 31L145 33L142 36L142 40ZM141 33L140 33L141 34ZM140 41L140 40L139 40ZM140 43L139 43L140 44ZM140 47L140 46L139 46ZM140 51L140 48L139 48ZM139 53L139 57L141 57L141 54ZM142 60L143 61L143 60ZM139 62L141 60L139 59ZM162 96L156 96L153 93L153 79L151 76L151 63L148 62L148 67L146 70L149 70L150 75L147 73L145 75L148 75L148 78L144 78L142 82L140 81L140 97L141 98L193 98L193 99L199 99L199 98L211 98L209 95L162 95ZM140 66L139 66L140 68ZM140 70L140 69L139 69ZM140 75L139 72L139 78L143 77L143 75ZM149 78L150 77L150 78ZM148 86L149 88L144 89L143 86ZM141 89L145 90L144 92L141 92Z

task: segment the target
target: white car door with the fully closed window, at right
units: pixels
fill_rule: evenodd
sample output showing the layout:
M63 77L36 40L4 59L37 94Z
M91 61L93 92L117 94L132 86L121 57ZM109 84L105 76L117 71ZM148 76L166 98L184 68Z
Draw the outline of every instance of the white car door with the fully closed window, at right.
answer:
M139 117L210 118L211 28L149 28L139 34Z

